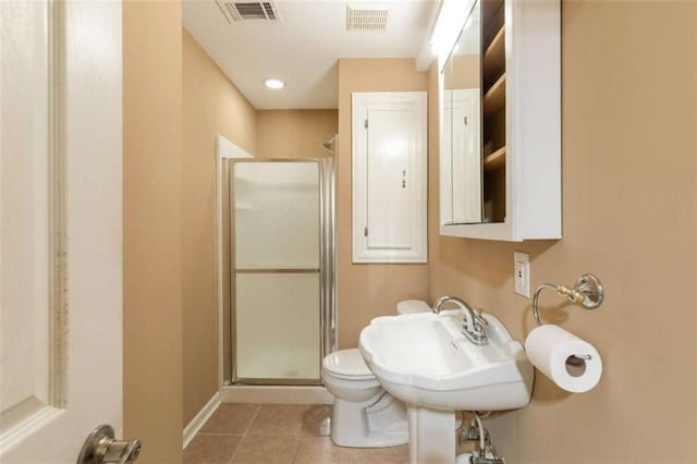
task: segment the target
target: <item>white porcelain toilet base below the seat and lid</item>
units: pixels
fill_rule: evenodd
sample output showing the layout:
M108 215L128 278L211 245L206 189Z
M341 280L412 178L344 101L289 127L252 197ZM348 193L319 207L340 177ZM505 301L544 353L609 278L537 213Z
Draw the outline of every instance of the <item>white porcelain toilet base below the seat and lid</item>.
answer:
M356 403L334 400L331 439L340 447L383 448L408 443L404 403L386 392Z

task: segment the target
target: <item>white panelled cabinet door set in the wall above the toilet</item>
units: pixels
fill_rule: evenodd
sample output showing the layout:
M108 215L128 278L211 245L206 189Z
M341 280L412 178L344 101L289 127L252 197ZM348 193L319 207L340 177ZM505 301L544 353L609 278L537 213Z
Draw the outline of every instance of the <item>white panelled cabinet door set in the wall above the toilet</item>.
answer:
M426 93L354 93L354 262L426 262Z

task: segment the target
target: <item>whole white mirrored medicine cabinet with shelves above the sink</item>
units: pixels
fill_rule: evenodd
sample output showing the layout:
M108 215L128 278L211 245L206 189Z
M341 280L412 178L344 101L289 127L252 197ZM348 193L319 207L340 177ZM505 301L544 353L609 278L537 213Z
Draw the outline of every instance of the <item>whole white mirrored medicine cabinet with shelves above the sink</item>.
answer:
M439 62L441 234L561 239L559 1L470 3Z

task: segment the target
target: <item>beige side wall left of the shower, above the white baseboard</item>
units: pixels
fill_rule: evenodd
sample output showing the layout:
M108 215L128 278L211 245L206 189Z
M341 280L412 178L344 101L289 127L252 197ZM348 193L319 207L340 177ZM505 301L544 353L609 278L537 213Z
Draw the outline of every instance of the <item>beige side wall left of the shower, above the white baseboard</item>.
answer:
M216 135L256 151L256 112L183 29L184 425L218 391Z

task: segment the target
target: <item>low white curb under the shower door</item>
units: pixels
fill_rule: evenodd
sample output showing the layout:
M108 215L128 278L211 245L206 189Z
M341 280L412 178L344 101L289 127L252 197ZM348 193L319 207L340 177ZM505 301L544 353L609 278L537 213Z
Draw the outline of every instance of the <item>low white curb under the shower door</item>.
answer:
M228 386L222 403L333 404L334 396L319 386Z

